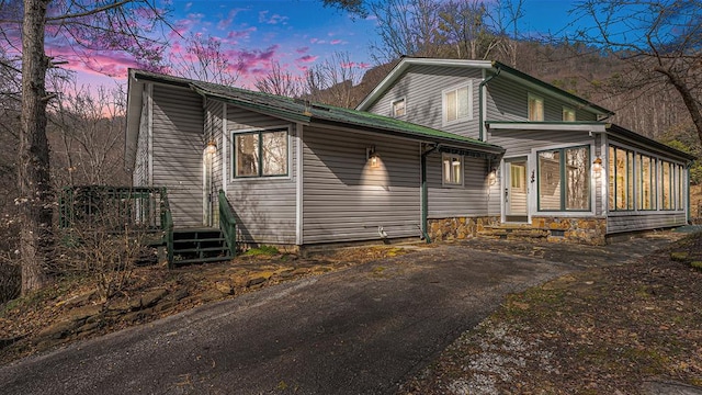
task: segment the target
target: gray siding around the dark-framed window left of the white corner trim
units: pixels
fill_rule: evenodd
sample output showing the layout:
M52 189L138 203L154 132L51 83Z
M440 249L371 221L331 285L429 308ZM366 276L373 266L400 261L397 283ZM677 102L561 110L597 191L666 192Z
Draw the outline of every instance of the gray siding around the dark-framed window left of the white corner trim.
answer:
M237 217L240 241L252 244L295 244L296 219L296 133L294 125L272 116L227 105L227 199ZM288 176L234 178L231 132L269 127L290 127Z

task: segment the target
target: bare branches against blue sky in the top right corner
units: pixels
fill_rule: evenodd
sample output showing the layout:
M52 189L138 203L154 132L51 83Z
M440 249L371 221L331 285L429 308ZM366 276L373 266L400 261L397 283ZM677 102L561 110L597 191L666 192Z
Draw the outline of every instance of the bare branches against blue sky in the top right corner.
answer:
M623 90L672 87L702 142L702 1L584 0L571 12L591 24L569 40L623 60Z

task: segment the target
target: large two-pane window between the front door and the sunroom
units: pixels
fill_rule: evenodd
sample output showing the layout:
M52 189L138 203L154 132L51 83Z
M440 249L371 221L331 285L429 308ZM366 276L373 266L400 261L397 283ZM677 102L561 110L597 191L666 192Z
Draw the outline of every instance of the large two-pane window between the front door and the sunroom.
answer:
M539 153L539 211L590 210L590 147Z

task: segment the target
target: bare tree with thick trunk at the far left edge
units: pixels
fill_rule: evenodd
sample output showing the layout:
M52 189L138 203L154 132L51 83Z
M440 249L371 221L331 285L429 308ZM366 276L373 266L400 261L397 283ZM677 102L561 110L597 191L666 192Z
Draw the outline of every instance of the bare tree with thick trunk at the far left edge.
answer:
M22 29L16 202L21 206L20 252L25 294L46 283L54 244L46 106L55 94L46 89L46 75L61 61L46 55L46 34L50 32L53 41L71 45L84 58L92 50L112 49L135 54L147 66L154 65L160 60L160 46L145 32L162 21L163 10L154 0L24 0L21 7L16 1L3 1L0 7L0 37L16 47L18 35L11 31Z

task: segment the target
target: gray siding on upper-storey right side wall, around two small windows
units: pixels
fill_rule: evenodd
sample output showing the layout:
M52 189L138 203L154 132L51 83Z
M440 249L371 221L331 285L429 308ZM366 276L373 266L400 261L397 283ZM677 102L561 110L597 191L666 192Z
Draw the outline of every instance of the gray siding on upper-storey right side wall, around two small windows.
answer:
M544 92L530 90L512 79L496 77L487 83L486 121L523 122L529 120L529 93L544 100L544 121L563 121L563 108L576 111L577 121L597 121L596 114L578 109Z

